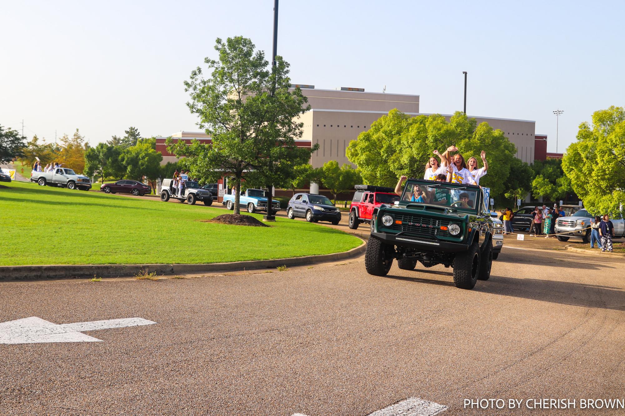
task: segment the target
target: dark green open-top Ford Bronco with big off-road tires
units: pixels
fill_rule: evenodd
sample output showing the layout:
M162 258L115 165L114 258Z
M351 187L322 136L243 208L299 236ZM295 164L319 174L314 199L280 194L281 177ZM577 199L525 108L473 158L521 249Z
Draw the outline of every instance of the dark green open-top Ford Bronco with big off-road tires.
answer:
M397 259L404 270L417 261L452 266L457 288L487 280L495 230L486 198L479 186L408 179L394 205L381 205L372 217L367 273L386 276Z

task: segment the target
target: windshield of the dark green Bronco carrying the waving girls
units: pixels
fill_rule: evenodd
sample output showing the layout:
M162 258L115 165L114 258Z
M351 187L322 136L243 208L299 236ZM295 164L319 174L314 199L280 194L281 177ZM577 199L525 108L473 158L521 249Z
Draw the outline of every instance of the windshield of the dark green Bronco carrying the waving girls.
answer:
M426 181L408 181L404 186L401 203L422 203L476 211L479 205L479 190L474 186L449 182L434 184Z

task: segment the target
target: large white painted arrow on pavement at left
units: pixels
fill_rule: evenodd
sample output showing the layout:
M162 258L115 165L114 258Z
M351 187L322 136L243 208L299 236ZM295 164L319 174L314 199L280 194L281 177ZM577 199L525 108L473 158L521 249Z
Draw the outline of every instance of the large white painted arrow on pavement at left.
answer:
M133 317L104 321L53 324L36 316L15 321L0 322L0 344L34 344L37 342L100 342L101 339L83 334L83 331L151 325L156 322Z

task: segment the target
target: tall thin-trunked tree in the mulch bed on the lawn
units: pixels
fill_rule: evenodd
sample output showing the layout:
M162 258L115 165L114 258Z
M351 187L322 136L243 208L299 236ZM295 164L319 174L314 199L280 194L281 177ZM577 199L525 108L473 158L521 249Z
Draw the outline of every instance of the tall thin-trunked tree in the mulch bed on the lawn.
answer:
M181 164L192 176L203 181L231 178L238 214L246 175L272 181L285 167L307 162L295 139L302 134L297 117L309 107L299 89L289 90L288 64L281 57L269 69L264 52L254 51L252 41L242 36L217 39L215 50L218 59L204 59L209 75L204 77L197 67L184 82L191 95L187 106L212 143L193 140L187 145L173 138L166 143L169 152L185 157Z

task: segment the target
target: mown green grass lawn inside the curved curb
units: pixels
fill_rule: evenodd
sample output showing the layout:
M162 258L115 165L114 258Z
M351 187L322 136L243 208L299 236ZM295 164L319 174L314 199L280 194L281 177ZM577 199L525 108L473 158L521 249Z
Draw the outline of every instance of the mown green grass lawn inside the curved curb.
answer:
M0 189L0 265L221 263L361 244L342 231L287 218L271 228L201 222L229 212L13 181Z

